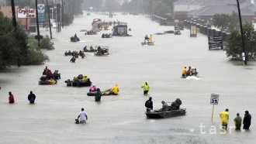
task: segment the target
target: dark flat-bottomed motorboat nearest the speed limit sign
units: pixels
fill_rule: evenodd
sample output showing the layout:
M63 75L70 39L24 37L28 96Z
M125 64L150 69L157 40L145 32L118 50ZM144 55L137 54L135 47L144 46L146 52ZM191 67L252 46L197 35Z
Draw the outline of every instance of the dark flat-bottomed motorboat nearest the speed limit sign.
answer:
M166 102L168 105L168 110L151 110L146 111L145 114L147 115L147 118L170 118L178 115L185 115L186 109L185 108L179 108L180 105L182 105L182 101L177 98L176 101L173 102Z

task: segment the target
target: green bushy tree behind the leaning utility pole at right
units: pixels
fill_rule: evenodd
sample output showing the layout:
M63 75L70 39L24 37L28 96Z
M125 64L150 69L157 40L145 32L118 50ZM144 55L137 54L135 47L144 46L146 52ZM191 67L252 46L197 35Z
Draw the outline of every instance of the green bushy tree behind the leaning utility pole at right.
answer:
M252 23L245 22L243 30L246 59L256 60L256 31L254 29L254 25ZM230 57L232 60L242 60L242 53L244 50L238 29L234 29L230 32L224 51L226 51L227 57Z

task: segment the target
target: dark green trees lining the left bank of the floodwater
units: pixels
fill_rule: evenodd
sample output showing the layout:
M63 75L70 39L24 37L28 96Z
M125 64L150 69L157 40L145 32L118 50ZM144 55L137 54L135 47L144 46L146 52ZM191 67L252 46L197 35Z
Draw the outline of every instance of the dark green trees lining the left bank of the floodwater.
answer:
M34 37L29 37L21 28L12 26L9 19L0 12L0 69L10 66L39 65L49 58L41 49L53 50L54 43L49 36L41 39L40 47Z

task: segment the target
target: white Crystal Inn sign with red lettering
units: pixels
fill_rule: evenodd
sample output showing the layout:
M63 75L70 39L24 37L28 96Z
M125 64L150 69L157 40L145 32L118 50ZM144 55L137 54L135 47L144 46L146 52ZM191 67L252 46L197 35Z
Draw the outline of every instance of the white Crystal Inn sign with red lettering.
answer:
M30 9L29 7L24 7L22 9L18 8L17 10L18 18L36 18L36 9Z

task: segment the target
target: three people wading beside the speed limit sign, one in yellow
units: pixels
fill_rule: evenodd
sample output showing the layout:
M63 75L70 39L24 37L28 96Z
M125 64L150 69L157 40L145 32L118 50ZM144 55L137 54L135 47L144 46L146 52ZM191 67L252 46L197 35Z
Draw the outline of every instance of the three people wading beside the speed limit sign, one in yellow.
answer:
M251 126L251 115L249 114L249 111L244 111L244 119L242 122L242 118L240 117L240 114L237 113L237 117L234 118L234 124L236 126L236 130L240 130L241 125L243 124L243 129L247 130ZM226 108L225 111L220 112L220 118L221 118L221 124L222 129L227 129L228 120L230 118L229 109Z

